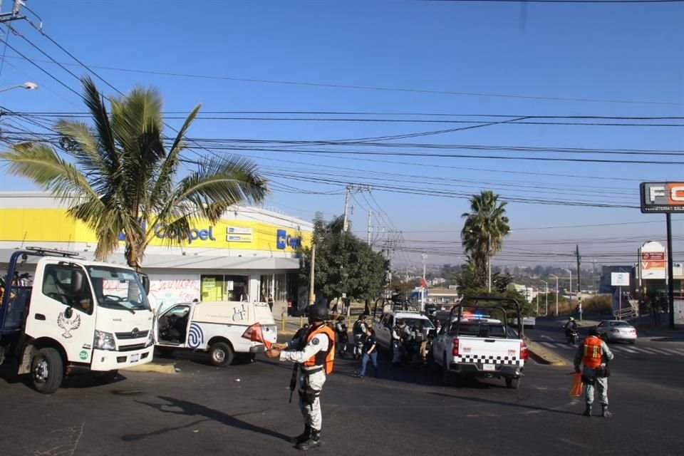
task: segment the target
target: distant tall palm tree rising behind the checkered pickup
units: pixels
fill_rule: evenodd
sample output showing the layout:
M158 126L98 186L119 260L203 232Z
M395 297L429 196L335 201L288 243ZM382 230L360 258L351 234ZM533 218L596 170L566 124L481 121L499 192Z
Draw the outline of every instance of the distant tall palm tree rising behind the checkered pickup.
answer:
M461 240L465 253L479 271L480 283L487 283L492 291L492 269L490 262L496 252L501 251L504 236L511 228L506 217L506 202L498 202L499 195L491 190L482 190L480 195L470 198L470 212L465 212L465 223Z

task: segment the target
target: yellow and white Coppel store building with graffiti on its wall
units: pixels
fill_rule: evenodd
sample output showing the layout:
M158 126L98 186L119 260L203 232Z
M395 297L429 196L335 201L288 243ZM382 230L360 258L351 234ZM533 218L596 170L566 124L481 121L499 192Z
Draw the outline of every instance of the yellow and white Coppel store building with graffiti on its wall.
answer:
M19 248L68 250L94 259L95 234L69 218L67 207L43 192L0 192L4 274L11 253ZM310 244L312 232L311 222L260 207L231 207L217 224L197 221L183 235L182 247L168 247L168 239L154 227L142 259L152 306L193 299L261 301L269 294L278 306L296 301L302 288L297 250ZM107 261L126 264L123 242Z

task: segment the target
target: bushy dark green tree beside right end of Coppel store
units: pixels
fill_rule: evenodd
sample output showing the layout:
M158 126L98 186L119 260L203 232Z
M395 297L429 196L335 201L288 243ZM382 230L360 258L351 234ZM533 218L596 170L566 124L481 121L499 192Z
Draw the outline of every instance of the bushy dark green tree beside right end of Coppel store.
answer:
M388 261L351 232L343 231L342 221L342 217L330 222L321 214L314 217L314 288L328 304L343 293L348 299L374 300L385 285ZM300 258L300 277L309 281L311 248L302 248Z

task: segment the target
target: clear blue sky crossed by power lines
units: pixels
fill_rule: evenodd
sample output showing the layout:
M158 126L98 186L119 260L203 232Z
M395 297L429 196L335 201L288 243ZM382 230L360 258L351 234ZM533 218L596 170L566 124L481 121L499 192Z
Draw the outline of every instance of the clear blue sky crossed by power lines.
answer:
M28 7L40 16L50 38L91 66L112 86L124 92L136 84L160 88L166 111L187 113L202 103L204 113L269 112L215 114L215 117L319 119L203 119L192 126L192 138L330 141L475 125L425 120L481 120L483 123L505 120L492 115L684 115L684 60L681 58L684 4L681 3L31 0ZM5 11L8 8L4 5ZM31 15L29 19L38 21ZM30 24L16 21L13 26L56 61L68 63L67 68L73 73L87 73L84 68L72 66L76 62ZM76 78L53 63L46 63L46 57L20 36L9 36L9 45L67 86L79 90ZM0 46L0 52L3 48L4 45ZM2 107L22 113L83 112L83 105L74 93L30 62L17 58L11 48L6 49L5 56L0 87L28 80L35 81L40 88L31 92L17 89L0 93ZM104 93L115 94L97 78L95 82ZM426 93L430 91L433 93ZM307 114L273 114L276 111ZM308 114L310 111L346 114L314 115ZM373 114L358 114L362 112ZM465 114L487 117L466 118ZM174 116L178 115L170 114ZM389 119L412 122L378 121ZM11 125L27 125L23 122L4 116L5 125L0 127L6 130ZM684 125L684 120L645 122ZM169 123L179 125L180 120L170 118ZM376 213L382 210L383 217L371 218L371 224L378 227L373 234L374 245L380 247L386 239L386 234L380 235L383 227L385 232L401 230L404 242L400 244L401 251L395 254L395 264L407 261L418 264L419 252L427 252L430 264L457 262L460 214L468 209L464 195L485 189L497 192L504 201L511 200L508 214L512 234L504 242L504 252L495 264L524 264L532 260L571 264L574 257L570 252L576 243L580 245L584 261L596 259L598 264L624 264L636 261L635 252L642 242L665 239L665 217L644 215L633 208L597 208L567 202L638 206L639 182L682 180L680 165L494 160L425 154L678 163L684 160L676 155L598 155L592 151L599 148L682 151L683 128L490 125L385 140L380 145L260 144L261 149L275 150L233 152L252 157L274 182L267 206L304 219L311 219L316 211L324 212L326 217L341 214L344 187L348 183L373 185L371 194L361 192L353 197L353 229L365 238L367 209ZM400 143L420 146L393 146ZM542 150L435 149L440 145L505 145L541 147ZM580 155L547 150L551 147L584 151ZM361 151L366 155L340 154L341 151ZM201 155L226 153L214 149L197 152ZM369 156L368 152L390 155ZM391 155L396 152L417 155ZM188 157L195 156L193 151L188 152ZM323 182L306 182L302 178ZM0 184L0 190L32 188L30 183L15 177L4 177ZM452 197L436 196L437 191ZM521 198L534 204L516 202ZM539 204L549 200L561 204ZM680 219L673 217L675 239L681 237ZM679 258L676 252L681 252ZM684 259L678 242L675 242L675 259Z

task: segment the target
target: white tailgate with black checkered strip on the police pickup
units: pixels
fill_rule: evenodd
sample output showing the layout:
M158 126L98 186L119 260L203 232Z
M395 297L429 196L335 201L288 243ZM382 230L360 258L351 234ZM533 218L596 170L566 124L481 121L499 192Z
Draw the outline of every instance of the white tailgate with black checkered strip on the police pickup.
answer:
M494 366L502 364L522 366L524 360L520 358L519 339L460 336L454 362L478 364L482 371L494 371Z

